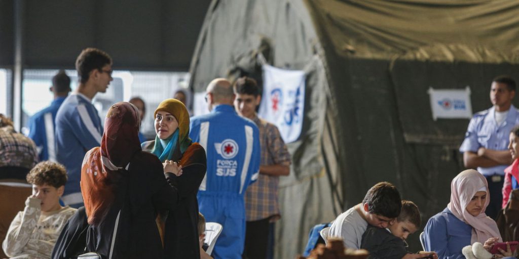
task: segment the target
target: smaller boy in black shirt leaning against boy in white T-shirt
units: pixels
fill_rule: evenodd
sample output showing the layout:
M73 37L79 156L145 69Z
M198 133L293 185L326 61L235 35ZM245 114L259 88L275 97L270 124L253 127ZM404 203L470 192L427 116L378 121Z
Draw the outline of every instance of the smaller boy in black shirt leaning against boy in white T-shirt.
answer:
M438 258L433 252L412 254L407 252L407 237L415 233L421 225L420 211L409 200L402 200L402 210L397 221L387 228L368 226L362 235L361 248L370 252L370 259L413 259ZM432 257L430 257L432 255ZM436 256L436 257L434 257Z

